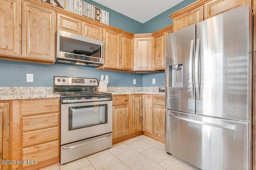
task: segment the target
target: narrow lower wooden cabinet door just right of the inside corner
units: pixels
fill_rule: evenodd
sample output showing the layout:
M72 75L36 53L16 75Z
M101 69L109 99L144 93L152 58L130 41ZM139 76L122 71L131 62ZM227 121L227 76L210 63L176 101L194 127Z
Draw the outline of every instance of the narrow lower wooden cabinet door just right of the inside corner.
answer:
M153 96L143 95L143 131L153 134Z

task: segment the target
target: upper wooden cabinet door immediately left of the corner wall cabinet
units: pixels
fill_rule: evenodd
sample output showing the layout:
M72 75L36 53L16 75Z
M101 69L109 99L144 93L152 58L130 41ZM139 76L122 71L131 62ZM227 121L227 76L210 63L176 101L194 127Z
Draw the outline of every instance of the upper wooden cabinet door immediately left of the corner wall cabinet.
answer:
M132 71L133 65L133 38L120 34L120 69Z

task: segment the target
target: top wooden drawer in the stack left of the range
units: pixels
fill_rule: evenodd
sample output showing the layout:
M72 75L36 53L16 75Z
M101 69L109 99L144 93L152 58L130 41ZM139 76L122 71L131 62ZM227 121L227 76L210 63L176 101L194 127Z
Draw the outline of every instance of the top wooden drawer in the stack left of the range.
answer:
M59 99L29 99L21 101L21 115L59 112Z

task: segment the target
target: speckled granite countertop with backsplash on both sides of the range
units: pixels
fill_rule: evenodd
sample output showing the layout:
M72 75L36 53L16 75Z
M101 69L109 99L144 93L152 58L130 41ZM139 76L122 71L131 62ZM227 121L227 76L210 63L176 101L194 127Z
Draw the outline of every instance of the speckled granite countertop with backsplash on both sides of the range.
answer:
M112 95L165 95L165 93L159 92L159 87L108 87L108 93L112 93ZM52 87L0 87L0 100L41 99L54 97L60 97L60 95L53 93Z

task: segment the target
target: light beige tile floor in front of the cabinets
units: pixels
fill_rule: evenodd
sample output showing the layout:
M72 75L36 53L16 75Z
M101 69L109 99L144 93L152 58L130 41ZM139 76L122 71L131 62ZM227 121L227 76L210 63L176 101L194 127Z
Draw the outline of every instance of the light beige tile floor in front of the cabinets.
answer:
M113 144L112 148L84 158L42 170L198 170L194 166L168 155L164 144L140 135Z

